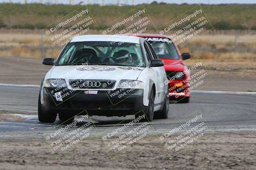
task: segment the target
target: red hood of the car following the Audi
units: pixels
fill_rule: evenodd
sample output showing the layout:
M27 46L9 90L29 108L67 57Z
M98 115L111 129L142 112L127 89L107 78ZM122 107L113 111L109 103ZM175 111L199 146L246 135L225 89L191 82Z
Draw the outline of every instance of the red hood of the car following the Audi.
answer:
M161 59L164 61L164 69L166 71L184 71L185 66L182 63L182 60L175 59Z

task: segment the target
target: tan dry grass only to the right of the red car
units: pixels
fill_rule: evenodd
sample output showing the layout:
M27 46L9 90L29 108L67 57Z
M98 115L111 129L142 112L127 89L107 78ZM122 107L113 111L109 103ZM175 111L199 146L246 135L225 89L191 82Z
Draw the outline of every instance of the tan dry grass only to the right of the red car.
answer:
M255 62L256 35L198 35L180 46L180 52L192 53L191 60L212 62Z

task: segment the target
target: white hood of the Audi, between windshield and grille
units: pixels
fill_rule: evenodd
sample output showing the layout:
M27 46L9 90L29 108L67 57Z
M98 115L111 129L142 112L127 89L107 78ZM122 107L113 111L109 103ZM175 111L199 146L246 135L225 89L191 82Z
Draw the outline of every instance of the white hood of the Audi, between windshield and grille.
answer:
M131 66L54 66L49 78L87 80L137 80L143 67Z

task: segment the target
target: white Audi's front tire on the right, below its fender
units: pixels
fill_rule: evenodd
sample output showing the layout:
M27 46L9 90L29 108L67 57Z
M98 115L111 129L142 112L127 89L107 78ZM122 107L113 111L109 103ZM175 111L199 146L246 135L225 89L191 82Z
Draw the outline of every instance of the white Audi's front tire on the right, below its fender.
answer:
M149 95L149 103L148 106L145 107L145 118L142 119L140 122L152 122L154 118L154 100L155 100L155 93L154 90L151 90ZM136 118L139 117L139 115L135 115Z

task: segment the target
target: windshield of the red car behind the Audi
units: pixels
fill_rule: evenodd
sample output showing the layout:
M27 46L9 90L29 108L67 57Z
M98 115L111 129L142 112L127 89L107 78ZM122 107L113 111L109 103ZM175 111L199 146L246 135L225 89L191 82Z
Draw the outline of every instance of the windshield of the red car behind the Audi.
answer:
M168 41L148 40L148 42L154 48L154 51L159 59L179 59L179 54L173 43L170 43L170 39L168 39Z

